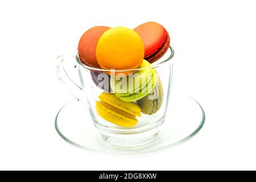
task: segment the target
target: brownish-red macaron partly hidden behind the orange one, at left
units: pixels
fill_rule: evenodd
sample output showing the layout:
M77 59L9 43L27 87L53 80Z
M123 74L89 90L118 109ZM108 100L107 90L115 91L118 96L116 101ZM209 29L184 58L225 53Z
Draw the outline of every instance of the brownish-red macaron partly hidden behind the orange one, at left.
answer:
M100 68L96 59L96 46L100 36L110 27L96 26L87 30L80 38L78 45L79 59L93 68Z

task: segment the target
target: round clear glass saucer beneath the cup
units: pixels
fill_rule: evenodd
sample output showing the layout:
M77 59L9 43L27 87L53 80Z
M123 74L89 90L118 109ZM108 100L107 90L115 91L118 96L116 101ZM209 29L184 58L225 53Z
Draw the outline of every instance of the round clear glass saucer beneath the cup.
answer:
M189 96L171 96L167 112L154 144L138 150L119 150L106 144L91 121L88 107L76 100L60 109L55 118L55 128L61 138L84 150L138 154L181 144L194 137L205 122L203 107Z

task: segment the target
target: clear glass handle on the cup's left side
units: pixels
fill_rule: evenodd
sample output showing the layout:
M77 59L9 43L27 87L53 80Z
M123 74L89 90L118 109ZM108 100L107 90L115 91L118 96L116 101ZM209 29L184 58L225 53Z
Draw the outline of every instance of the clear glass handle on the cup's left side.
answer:
M75 56L69 56L72 60L76 60ZM64 60L67 60L67 56L64 55L60 55L56 58L56 64L55 64L55 68L56 68L56 74L57 77L59 78L60 82L63 83L63 85L65 86L65 88L67 88L67 90L69 91L69 93L72 94L72 96L79 101L80 100L80 95L81 95L81 86L77 85L72 79L71 77L68 76L67 72L65 71L64 68ZM75 62L75 61L74 61ZM77 68L77 64L76 62L74 63L74 67L73 68Z

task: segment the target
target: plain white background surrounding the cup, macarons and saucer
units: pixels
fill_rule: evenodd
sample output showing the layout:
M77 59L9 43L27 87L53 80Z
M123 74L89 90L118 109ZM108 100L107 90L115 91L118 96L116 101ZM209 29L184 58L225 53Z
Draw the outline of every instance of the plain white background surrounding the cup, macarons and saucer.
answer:
M1 1L0 169L256 169L255 1ZM163 24L175 48L173 88L205 109L192 140L144 155L84 151L57 135L72 97L55 57L88 28Z

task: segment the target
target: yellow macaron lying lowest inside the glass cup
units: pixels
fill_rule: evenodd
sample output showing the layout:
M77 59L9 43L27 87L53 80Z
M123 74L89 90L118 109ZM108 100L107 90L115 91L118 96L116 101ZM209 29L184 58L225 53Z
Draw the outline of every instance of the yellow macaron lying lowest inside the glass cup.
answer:
M141 117L141 107L135 102L119 100L112 93L103 92L96 101L96 111L100 117L115 125L133 127L138 123L137 117Z

